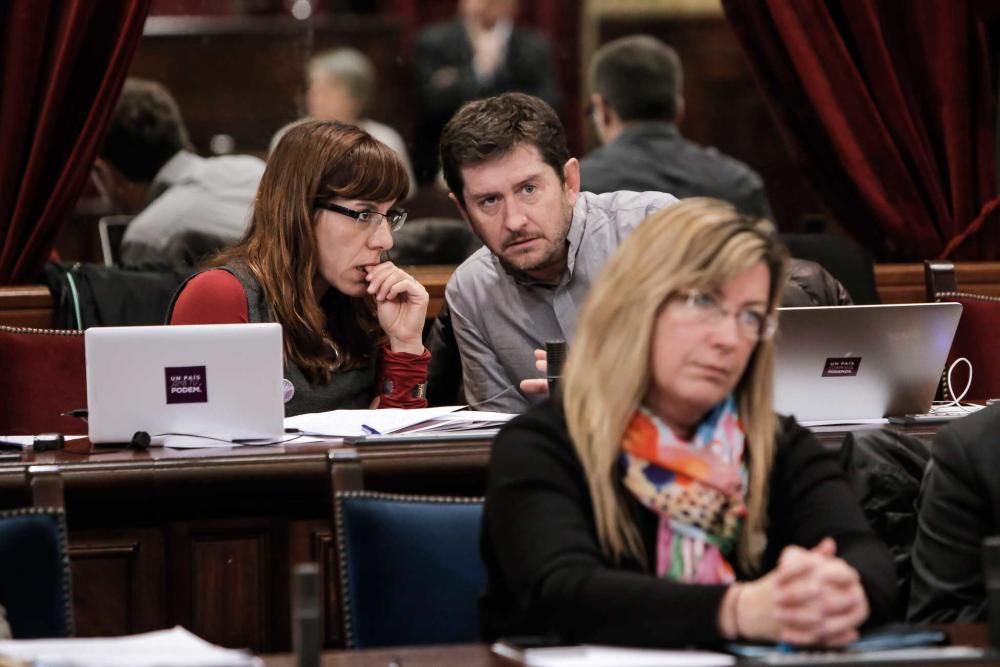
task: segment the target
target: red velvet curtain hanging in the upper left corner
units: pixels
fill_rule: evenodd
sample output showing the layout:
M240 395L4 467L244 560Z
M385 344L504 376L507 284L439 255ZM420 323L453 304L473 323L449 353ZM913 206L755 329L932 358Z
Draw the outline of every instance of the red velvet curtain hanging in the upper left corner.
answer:
M149 0L0 2L0 285L38 280L148 9Z

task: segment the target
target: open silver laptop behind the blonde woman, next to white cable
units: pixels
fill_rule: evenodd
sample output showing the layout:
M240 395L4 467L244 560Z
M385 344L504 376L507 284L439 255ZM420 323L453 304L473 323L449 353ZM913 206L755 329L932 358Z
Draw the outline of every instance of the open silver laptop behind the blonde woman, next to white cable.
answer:
M775 410L845 422L927 412L961 315L958 303L780 309Z

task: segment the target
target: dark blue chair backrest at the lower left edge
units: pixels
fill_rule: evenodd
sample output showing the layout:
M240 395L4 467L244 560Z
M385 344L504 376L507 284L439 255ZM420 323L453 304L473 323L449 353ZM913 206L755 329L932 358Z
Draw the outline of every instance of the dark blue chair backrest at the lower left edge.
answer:
M66 521L59 508L0 512L0 605L15 639L70 637Z

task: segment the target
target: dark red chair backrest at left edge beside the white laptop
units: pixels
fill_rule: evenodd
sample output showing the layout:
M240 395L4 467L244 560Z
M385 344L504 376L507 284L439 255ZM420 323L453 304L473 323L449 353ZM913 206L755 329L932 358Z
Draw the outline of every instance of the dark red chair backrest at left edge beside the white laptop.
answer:
M84 435L62 413L87 406L83 332L0 326L0 435Z

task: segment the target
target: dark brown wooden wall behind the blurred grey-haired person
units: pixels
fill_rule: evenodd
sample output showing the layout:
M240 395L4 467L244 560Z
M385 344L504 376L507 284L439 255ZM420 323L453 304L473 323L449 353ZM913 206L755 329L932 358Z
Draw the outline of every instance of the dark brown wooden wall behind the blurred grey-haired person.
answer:
M409 79L397 58L400 34L398 20L380 16L152 17L129 75L170 89L200 153L210 153L213 136L228 135L235 152L263 155L278 128L305 115L310 55L353 46L377 72L371 117L405 136Z

